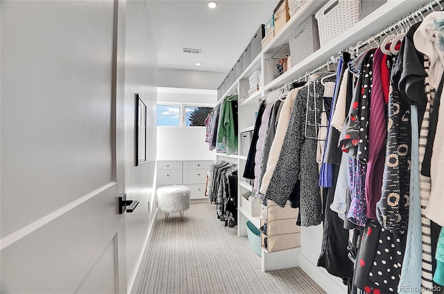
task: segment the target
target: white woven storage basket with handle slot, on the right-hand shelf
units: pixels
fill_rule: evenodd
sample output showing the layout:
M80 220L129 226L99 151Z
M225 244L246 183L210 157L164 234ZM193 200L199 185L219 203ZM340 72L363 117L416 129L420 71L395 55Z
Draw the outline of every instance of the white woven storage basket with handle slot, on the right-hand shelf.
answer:
M359 21L361 0L330 0L314 15L321 46Z

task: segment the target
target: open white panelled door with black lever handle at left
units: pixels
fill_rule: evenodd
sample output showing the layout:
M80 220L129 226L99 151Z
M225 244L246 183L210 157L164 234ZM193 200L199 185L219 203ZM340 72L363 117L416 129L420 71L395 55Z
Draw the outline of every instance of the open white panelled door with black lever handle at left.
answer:
M0 2L1 293L126 292L125 6Z

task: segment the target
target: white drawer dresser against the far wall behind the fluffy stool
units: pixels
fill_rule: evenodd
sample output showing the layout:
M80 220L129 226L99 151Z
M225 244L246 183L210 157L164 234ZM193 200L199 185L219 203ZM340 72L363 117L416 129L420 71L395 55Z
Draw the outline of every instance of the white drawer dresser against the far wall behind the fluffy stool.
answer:
M205 196L207 170L214 160L157 160L157 187L185 185L191 189L191 199Z

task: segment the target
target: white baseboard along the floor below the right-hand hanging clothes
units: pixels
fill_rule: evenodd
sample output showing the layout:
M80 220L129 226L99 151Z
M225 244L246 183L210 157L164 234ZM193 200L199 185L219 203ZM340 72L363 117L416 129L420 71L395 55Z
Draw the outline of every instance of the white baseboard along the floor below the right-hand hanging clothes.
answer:
M299 267L311 277L326 293L329 294L345 294L347 286L342 284L339 277L334 277L327 273L325 268L321 268L313 264L305 255L299 255Z

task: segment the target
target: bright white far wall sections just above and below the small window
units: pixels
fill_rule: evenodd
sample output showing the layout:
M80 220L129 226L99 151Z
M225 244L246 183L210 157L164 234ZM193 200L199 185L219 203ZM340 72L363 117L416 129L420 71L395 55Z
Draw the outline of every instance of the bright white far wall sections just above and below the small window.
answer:
M216 104L216 91L163 88L157 102ZM205 143L205 127L157 127L157 160L211 159L215 151Z

